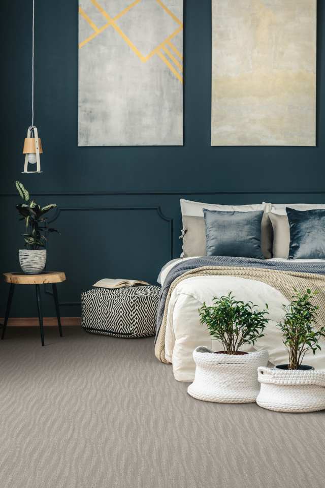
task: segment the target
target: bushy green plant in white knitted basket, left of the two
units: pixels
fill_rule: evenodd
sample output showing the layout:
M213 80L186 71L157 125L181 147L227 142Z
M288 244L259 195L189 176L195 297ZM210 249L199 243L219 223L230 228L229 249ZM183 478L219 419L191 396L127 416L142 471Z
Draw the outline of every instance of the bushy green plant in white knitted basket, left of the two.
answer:
M237 301L229 293L203 304L200 321L223 351L200 346L193 351L196 372L188 393L199 400L220 403L255 402L259 390L257 368L268 363L268 351L247 353L239 348L254 345L268 323L268 306L258 310L252 302Z

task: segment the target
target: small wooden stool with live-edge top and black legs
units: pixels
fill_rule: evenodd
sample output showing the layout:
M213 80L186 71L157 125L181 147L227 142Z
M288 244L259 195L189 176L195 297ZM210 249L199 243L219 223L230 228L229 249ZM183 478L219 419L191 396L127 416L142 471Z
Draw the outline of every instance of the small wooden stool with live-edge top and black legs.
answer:
M6 316L5 316L4 328L2 331L1 339L4 339L5 337L15 285L35 285L37 309L38 309L39 320L40 320L41 341L42 341L42 346L44 346L44 329L43 329L40 285L46 285L47 283L52 283L53 298L54 298L55 311L57 316L57 324L59 327L60 337L62 337L62 327L61 327L61 319L60 319L59 302L57 298L56 283L62 283L62 281L66 280L66 275L64 275L63 271L51 271L48 273L40 273L40 275L24 275L23 273L4 273L4 277L5 277L5 282L10 283L10 290L9 290Z

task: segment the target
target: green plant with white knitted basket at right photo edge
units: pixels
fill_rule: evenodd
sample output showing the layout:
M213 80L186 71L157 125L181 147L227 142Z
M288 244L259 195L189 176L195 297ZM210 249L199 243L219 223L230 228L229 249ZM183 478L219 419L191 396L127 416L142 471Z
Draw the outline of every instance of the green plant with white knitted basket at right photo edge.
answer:
M306 352L316 354L319 340L325 337L325 326L313 326L318 306L312 303L317 291L307 290L295 295L285 310L284 320L278 324L283 343L289 354L287 364L274 369L258 368L261 383L256 403L260 407L279 412L312 412L325 408L325 370L302 364Z

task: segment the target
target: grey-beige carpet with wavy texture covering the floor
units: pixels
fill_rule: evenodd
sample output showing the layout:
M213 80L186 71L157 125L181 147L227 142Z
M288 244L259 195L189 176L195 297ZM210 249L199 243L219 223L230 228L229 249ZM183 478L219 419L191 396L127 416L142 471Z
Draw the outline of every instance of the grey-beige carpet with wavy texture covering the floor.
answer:
M1 488L323 488L323 412L200 402L153 339L8 328Z

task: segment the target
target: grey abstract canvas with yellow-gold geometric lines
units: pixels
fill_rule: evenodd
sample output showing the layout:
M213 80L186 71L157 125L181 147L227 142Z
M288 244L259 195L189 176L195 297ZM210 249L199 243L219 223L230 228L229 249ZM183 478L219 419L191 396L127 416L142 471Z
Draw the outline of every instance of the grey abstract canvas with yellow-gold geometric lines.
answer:
M183 145L183 0L79 0L79 146Z

